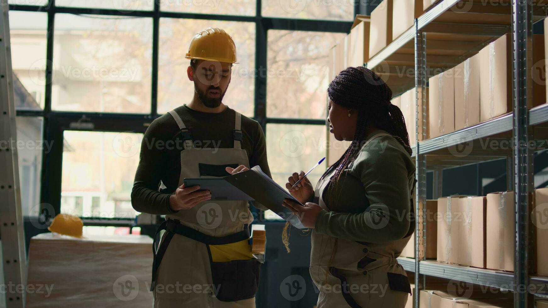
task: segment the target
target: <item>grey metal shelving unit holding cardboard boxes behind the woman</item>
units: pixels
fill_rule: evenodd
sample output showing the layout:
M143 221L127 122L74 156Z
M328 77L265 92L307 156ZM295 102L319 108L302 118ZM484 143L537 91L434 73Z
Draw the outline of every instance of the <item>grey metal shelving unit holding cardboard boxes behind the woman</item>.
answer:
M506 3L507 5L502 5ZM416 259L398 258L407 271L415 273L415 307L419 306L419 290L424 289L426 276L446 278L487 287L527 292L513 292L514 306L533 307L534 296L548 297L548 277L530 275L534 266L534 232L529 230L528 213L533 200L533 152L520 149L518 142L534 138L548 139L548 104L532 105L532 28L548 14L548 6L532 1L472 2L443 0L415 20L414 27L373 56L365 66L378 72L395 95L415 88L416 143L412 145L416 163ZM490 121L426 140L427 78L450 69L479 52L496 38L511 33L513 111ZM450 44L454 43L454 44ZM456 46L456 47L455 47ZM413 67L413 69L410 69ZM397 73L412 72L412 76ZM392 77L392 75L395 75ZM387 78L386 78L387 77ZM543 98L544 99L544 98ZM540 128L540 129L539 129ZM509 150L489 149L487 141L509 142ZM515 191L516 242L515 271L493 271L469 266L443 264L425 260L426 172L434 170L435 182L441 186L443 168L462 166L492 159L507 158L507 189ZM441 197L435 187L434 198Z

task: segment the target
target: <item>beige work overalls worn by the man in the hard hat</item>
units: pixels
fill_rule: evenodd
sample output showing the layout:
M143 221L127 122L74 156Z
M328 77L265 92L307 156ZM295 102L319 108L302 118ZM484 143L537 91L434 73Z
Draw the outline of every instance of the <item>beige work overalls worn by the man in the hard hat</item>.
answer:
M238 112L232 132L234 147L218 149L196 148L190 129L175 111L169 113L185 139L179 186L185 178L229 175L224 170L226 166L249 168L247 152L241 148ZM255 307L260 263L256 259L215 262L210 250L213 245L249 239L248 226L252 221L247 201L203 201L191 209L166 215L159 230L167 231L153 264L154 306Z

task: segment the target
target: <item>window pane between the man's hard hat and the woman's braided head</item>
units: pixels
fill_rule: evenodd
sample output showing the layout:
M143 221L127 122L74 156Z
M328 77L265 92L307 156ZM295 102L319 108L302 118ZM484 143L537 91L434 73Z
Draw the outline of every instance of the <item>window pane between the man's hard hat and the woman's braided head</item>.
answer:
M329 50L344 33L270 30L267 110L269 117L326 117Z

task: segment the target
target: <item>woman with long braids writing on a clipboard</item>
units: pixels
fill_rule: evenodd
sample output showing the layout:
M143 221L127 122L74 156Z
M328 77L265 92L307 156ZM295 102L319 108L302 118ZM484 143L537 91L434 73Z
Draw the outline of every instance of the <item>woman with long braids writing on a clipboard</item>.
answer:
M352 141L322 175L286 187L305 206L283 206L312 230L310 275L318 308L404 307L410 284L396 258L414 228L415 166L402 112L392 91L373 71L348 67L327 90L330 132ZM308 201L308 202L307 202Z

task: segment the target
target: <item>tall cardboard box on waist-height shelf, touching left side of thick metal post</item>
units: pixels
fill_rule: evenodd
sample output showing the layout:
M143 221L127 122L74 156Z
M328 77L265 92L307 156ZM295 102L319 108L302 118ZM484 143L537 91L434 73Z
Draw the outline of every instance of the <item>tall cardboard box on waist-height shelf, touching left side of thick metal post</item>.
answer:
M515 207L513 192L487 194L487 268L513 271Z

